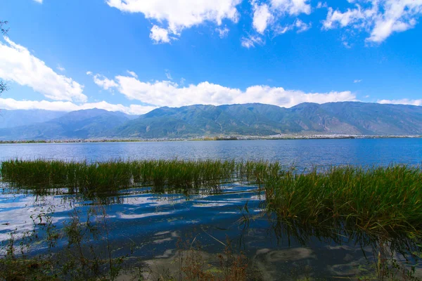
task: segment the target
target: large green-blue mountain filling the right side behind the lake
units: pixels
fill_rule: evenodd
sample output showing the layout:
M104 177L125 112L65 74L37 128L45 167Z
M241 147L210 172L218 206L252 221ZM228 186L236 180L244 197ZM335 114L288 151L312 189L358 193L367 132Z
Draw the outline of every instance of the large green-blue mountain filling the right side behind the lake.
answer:
M378 103L259 103L161 107L110 131L115 138L269 136L279 133L422 134L422 107Z

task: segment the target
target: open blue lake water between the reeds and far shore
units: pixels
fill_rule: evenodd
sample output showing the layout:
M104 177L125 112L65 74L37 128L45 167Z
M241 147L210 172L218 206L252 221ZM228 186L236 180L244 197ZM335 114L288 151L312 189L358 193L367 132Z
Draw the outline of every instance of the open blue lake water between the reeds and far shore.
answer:
M340 164L421 164L422 138L0 145L0 161L11 158L78 161L175 158L266 159L300 167Z

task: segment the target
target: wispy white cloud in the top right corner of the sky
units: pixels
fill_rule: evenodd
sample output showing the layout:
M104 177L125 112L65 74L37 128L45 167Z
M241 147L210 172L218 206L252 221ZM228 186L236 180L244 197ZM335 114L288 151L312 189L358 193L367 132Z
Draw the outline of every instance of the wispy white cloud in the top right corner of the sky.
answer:
M354 8L341 12L328 8L324 29L348 27L369 32L366 41L381 43L394 32L416 25L422 14L422 0L350 0Z

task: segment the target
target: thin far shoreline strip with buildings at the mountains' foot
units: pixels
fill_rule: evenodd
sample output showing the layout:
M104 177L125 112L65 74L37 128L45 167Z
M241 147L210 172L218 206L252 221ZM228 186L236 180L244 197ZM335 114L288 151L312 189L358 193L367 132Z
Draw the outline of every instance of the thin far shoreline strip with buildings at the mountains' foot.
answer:
M196 138L87 138L68 140L26 140L26 141L0 141L0 144L18 143L143 143L163 141L283 141L283 140L331 140L331 139L364 139L364 138L422 138L414 136L371 136L371 135L276 135L276 136L219 136L219 137L196 137Z

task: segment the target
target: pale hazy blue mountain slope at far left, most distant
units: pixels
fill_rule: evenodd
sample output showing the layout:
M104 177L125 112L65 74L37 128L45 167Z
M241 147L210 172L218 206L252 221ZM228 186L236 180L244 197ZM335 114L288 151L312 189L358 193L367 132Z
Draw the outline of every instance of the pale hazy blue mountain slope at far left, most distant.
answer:
M62 117L67 112L51 110L0 110L0 128L27 126Z

